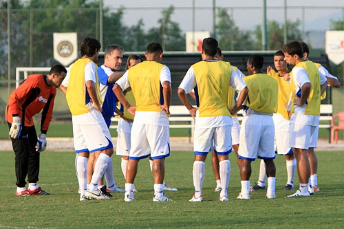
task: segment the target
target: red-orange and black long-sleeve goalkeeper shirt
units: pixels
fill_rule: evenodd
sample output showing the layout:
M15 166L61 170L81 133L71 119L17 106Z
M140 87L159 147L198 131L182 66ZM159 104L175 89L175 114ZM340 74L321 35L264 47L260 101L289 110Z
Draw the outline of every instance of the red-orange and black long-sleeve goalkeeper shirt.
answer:
M47 85L45 77L41 74L30 75L12 91L6 107L6 121L12 123L12 115L18 114L23 126L32 127L34 125L32 116L43 110L41 131L49 129L56 87Z

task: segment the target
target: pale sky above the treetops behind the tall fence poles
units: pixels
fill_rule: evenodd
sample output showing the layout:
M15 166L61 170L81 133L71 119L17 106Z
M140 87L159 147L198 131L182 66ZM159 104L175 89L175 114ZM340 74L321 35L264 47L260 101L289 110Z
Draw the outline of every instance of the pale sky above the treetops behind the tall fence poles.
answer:
M262 21L262 0L103 0L105 7L112 10L125 6L126 25L134 25L143 19L146 29L156 26L163 8L173 5L172 20L178 22L182 31L213 31L213 2L217 7L232 8L235 23L241 30L253 30ZM284 20L284 0L266 0L267 19ZM193 24L193 3L195 4L195 24ZM328 30L330 19L343 18L343 0L287 0L288 20L305 18L305 31ZM317 7L317 8L315 8ZM303 28L301 28L303 29Z

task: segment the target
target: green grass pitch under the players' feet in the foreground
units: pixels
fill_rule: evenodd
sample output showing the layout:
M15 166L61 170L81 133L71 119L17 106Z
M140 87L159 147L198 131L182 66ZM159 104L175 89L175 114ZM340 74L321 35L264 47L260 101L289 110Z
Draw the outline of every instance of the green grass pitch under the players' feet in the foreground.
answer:
M316 152L319 160L319 193L287 199L286 161L279 156L277 199L264 199L265 190L251 193L250 200L235 199L240 179L235 154L230 154L232 173L228 195L219 201L210 158L206 161L202 203L193 196L193 153L172 152L166 159L166 182L178 192L166 192L171 202L153 203L153 179L149 162L142 160L136 177L136 201L125 203L122 193L110 201L80 202L72 152L41 153L39 185L49 196L15 197L14 153L0 152L0 228L343 228L343 151ZM122 188L120 157L114 156L114 175ZM259 162L252 163L251 182L257 181ZM297 178L296 178L297 180ZM298 185L298 182L296 182Z

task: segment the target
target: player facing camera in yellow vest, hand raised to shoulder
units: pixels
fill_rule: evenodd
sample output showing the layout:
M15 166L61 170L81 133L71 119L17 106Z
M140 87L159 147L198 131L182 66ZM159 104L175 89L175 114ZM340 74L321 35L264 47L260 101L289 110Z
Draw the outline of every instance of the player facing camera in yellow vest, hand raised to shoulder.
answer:
M294 189L294 176L297 168L297 161L294 158L292 149L289 147L289 115L287 111L288 100L290 96L290 83L284 80L284 76L288 74L287 63L284 60L284 54L281 50L277 51L274 55L274 65L277 70L268 67L267 73L277 80L279 87L278 94L278 108L277 113L274 113L272 119L275 124L275 151L279 155L286 155L287 167L287 183L284 187L286 190ZM265 188L266 182L266 166L264 160L261 160L259 169L259 179L253 190Z

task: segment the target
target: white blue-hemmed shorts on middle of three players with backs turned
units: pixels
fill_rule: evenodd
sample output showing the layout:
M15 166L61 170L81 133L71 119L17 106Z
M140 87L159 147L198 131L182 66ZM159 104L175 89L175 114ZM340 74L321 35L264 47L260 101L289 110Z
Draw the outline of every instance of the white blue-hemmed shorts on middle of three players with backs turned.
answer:
M193 151L195 155L207 155L214 147L217 155L232 152L232 126L197 128L195 127Z

